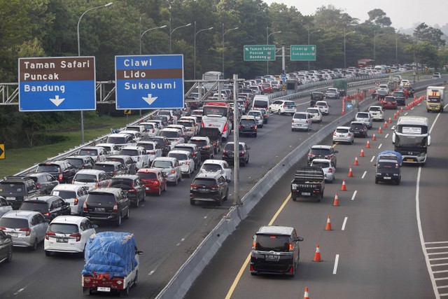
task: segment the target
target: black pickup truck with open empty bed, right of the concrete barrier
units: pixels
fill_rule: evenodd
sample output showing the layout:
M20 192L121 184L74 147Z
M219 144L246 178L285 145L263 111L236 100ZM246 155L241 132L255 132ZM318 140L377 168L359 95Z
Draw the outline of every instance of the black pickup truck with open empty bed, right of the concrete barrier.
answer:
M323 190L325 189L325 174L318 166L299 166L291 181L291 197L293 201L297 197L316 197L316 201L320 202L323 198Z

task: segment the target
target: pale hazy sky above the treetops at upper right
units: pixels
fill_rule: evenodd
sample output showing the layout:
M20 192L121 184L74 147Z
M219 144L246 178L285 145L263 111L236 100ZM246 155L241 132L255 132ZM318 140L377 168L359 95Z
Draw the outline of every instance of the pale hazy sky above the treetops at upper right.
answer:
M448 0L263 0L268 5L276 2L288 7L295 6L302 15L314 15L321 6L333 4L335 8L342 9L352 18L364 22L369 18L368 11L380 8L391 18L395 29L409 29L415 24L425 22L433 27L435 24L442 27L448 23Z

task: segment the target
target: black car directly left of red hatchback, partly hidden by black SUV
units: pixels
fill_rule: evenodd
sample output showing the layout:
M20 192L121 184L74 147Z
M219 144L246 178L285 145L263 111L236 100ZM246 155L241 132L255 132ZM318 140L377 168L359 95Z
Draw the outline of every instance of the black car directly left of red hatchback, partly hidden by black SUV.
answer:
M140 176L135 174L118 174L113 176L109 187L123 190L134 207L139 207L140 202L145 200L145 183L141 181Z

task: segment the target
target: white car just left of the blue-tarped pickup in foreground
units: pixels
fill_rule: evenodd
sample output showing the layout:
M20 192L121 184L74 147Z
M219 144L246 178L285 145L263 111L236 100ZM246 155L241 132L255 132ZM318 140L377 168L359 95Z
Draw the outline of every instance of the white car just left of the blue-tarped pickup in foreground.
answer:
M48 226L43 241L45 256L52 252L84 253L85 244L97 225L81 216L57 216Z

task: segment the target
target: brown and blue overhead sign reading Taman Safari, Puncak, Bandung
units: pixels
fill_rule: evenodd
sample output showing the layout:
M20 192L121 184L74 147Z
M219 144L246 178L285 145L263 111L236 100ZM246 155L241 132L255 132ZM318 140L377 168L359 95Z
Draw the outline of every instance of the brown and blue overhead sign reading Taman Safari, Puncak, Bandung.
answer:
M94 57L19 58L19 111L97 109Z

